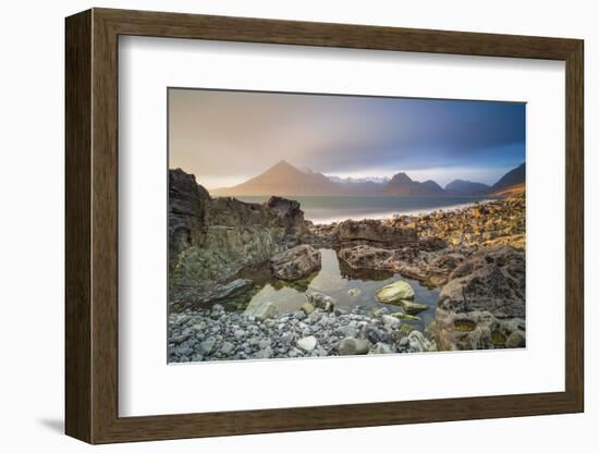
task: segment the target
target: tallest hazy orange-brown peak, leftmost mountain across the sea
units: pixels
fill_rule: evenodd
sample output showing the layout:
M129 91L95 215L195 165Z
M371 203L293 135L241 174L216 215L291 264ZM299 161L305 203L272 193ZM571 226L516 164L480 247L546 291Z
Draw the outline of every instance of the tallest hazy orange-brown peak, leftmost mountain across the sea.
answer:
M340 195L343 189L322 173L302 171L281 160L264 173L233 187L210 191L215 196Z

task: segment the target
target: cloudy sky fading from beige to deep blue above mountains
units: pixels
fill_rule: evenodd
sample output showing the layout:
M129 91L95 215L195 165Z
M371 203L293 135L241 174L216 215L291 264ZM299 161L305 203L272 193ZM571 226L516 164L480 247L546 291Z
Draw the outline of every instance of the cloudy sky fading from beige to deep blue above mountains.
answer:
M229 187L281 160L340 177L493 184L525 160L525 105L169 89L169 167Z

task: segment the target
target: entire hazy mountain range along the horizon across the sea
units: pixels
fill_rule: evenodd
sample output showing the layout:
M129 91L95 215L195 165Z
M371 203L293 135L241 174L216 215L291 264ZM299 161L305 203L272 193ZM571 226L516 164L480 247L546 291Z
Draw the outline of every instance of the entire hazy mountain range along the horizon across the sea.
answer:
M300 170L281 160L273 167L233 187L210 191L213 196L310 196L310 195L391 195L391 196L506 196L524 192L525 164L505 173L499 181L487 184L454 180L444 188L432 180L413 181L406 173L400 172L391 180L384 177L341 179L326 176L308 169Z

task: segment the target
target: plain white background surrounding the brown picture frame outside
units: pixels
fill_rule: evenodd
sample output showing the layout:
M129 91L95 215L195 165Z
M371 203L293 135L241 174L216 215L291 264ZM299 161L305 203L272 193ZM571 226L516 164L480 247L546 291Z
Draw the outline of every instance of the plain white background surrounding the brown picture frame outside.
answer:
M346 22L472 32L584 38L586 45L586 413L500 420L245 436L107 445L111 452L404 450L486 453L545 452L597 445L599 393L594 391L598 336L592 326L592 270L599 259L599 158L594 112L599 109L599 28L589 1L74 1L5 2L0 19L0 446L3 451L90 449L62 434L63 425L63 17L89 7L130 8ZM595 219L592 219L595 217ZM597 284L595 283L595 287ZM376 377L374 377L376 379ZM441 377L440 377L441 381ZM441 383L440 383L441 384ZM209 389L213 391L213 389ZM290 390L293 391L293 390Z

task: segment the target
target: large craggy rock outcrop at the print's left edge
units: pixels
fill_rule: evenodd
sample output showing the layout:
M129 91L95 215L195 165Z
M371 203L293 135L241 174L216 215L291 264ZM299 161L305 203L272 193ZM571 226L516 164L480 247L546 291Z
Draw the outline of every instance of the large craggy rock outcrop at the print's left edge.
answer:
M201 304L247 266L298 244L307 231L297 201L210 198L194 175L169 174L170 302Z

